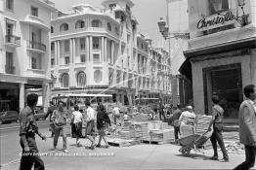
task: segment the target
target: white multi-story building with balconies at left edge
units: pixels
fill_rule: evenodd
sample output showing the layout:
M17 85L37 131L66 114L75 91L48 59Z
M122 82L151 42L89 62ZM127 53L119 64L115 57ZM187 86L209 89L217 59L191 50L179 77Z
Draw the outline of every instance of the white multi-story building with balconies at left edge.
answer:
M21 110L26 89L42 88L49 105L49 0L0 0L0 111Z

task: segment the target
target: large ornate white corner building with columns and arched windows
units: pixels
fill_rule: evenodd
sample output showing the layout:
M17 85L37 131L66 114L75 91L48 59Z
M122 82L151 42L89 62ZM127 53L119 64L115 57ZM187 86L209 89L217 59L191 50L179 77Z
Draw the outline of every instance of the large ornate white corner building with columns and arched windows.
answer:
M105 93L132 104L149 95L149 44L131 0L103 6L75 5L52 18L52 93Z

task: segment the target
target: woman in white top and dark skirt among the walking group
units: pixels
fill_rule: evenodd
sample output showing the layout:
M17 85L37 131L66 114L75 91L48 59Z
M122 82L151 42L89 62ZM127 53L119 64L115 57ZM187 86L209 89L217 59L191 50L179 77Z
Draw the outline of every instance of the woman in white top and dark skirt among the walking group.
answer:
M79 112L79 107L74 105L74 112L71 116L71 122L74 124L74 134L76 136L76 146L80 146L79 138L82 137L82 125L83 125L83 115Z

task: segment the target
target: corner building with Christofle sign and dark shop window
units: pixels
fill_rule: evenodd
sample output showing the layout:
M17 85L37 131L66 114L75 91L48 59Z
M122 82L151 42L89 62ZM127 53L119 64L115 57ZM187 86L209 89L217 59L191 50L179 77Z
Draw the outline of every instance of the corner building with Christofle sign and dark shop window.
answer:
M195 113L211 115L211 97L218 95L225 119L236 121L242 87L256 83L256 1L188 2L191 39L181 70L190 77L192 69Z

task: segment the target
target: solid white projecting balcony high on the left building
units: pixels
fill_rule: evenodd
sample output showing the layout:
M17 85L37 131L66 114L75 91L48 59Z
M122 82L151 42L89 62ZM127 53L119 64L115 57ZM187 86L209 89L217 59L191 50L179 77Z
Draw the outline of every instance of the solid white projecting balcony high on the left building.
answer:
M47 32L50 31L50 25L49 26L46 25L45 21L43 19L41 19L40 17L27 15L23 20L21 20L21 22L42 28Z

